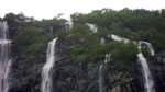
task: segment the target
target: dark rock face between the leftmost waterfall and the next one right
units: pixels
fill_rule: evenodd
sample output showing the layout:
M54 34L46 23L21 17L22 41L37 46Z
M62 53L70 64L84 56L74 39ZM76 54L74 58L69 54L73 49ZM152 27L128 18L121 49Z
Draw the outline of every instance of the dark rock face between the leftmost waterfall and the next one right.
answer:
M41 69L46 61L46 48L41 55L20 54L19 47L12 44L12 66L10 71L10 92L40 92ZM26 60L25 58L31 58ZM34 58L40 58L40 61Z

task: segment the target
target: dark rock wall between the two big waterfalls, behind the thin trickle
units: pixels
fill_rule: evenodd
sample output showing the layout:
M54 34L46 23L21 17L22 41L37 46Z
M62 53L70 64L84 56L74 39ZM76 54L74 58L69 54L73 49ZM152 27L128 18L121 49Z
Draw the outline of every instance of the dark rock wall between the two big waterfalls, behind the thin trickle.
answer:
M69 54L69 39L58 38L56 44L56 64L54 66L54 92L100 92L99 65L105 55L97 59L74 61ZM124 71L114 64L103 64L105 92L135 92L133 72Z

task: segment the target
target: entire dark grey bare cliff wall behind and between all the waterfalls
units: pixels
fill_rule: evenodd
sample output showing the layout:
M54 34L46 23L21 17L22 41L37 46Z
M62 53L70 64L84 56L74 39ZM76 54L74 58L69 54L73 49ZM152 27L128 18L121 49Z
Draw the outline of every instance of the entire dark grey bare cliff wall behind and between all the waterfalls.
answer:
M101 89L103 92L144 91L139 64L134 65L133 69L124 69L113 62L105 62L105 55L95 59L75 61L70 55L70 45L72 41L68 38L57 39L56 61L53 69L53 92L100 92L100 64L102 64L103 82ZM41 92L41 70L46 61L46 47L42 48L38 55L35 53L22 54L21 47L13 42L12 57L10 92ZM25 58L30 58L30 60ZM165 91L164 64L163 59L150 61L156 92Z

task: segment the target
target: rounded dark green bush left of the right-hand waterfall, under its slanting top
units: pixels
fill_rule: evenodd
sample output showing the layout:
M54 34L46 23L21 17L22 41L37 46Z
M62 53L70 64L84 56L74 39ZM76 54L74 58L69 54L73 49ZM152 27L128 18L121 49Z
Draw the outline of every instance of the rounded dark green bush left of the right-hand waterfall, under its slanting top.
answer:
M113 44L116 45L116 44ZM138 46L133 43L116 45L112 49L111 61L118 62L123 66L133 66L136 62L136 55L139 53Z

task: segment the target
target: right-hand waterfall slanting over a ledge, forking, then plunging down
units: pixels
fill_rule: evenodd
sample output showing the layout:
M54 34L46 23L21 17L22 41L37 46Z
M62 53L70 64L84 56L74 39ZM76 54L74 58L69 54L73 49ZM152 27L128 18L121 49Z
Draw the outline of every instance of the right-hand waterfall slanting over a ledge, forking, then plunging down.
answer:
M125 44L130 42L130 39L127 39L127 38L123 38L123 37L120 37L120 36L117 36L117 35L111 35L111 38L114 39L114 41L118 41L118 42L123 41ZM136 44L136 42L133 42L133 43ZM145 44L147 46L147 48L148 48L152 56L155 55L153 46L150 43L144 42L144 41L140 41L139 44L138 44L140 50L142 48L142 44ZM141 66L142 66L141 71L142 71L142 74L143 74L143 78L144 78L145 92L155 92L154 81L153 81L153 77L151 74L148 65L147 65L147 60L143 56L142 53L138 54L138 57L139 57L139 61L140 61Z

